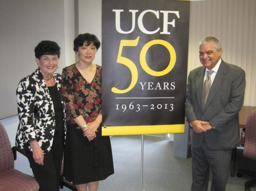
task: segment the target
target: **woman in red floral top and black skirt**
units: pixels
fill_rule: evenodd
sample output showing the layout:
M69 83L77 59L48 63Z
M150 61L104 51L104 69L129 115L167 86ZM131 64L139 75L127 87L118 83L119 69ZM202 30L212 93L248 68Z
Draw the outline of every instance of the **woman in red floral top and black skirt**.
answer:
M78 191L97 191L99 181L114 173L109 136L102 136L101 66L93 64L100 41L80 34L74 40L78 62L62 71L67 136L64 176Z

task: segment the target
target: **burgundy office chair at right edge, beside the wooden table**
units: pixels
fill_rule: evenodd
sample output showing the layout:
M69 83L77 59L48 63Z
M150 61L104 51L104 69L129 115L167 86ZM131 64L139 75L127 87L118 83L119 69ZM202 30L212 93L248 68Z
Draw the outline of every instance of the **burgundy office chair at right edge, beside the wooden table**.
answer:
M256 163L256 110L254 110L247 118L245 133L242 131L241 145L244 144L243 156L247 159L254 160ZM256 184L256 172L252 170L239 169L237 176L241 177L243 174L254 176L255 178L244 183L245 191L250 191L250 187Z

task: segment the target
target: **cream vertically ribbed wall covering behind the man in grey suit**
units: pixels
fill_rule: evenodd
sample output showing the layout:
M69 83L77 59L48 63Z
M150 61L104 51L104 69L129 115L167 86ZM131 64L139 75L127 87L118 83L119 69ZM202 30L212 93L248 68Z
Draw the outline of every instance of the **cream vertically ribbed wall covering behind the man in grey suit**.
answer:
M190 6L188 71L201 66L198 43L214 36L222 44L225 62L246 72L245 106L256 106L256 1L192 1Z

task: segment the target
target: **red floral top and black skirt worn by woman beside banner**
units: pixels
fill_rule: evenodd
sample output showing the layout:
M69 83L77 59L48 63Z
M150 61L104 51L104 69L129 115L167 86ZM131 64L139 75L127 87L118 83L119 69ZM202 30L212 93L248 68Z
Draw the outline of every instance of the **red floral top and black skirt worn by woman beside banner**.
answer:
M82 115L87 123L92 122L101 110L101 66L88 83L75 64L62 71L61 90L66 103L67 135L64 150L64 176L73 184L106 179L114 173L109 136L102 136L101 126L96 138L88 141L74 118Z

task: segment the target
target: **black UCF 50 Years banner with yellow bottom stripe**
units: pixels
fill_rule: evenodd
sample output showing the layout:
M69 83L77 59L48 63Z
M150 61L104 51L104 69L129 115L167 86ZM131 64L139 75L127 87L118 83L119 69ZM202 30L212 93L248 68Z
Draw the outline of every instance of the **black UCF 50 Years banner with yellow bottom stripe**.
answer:
M184 132L186 0L102 0L102 135Z

